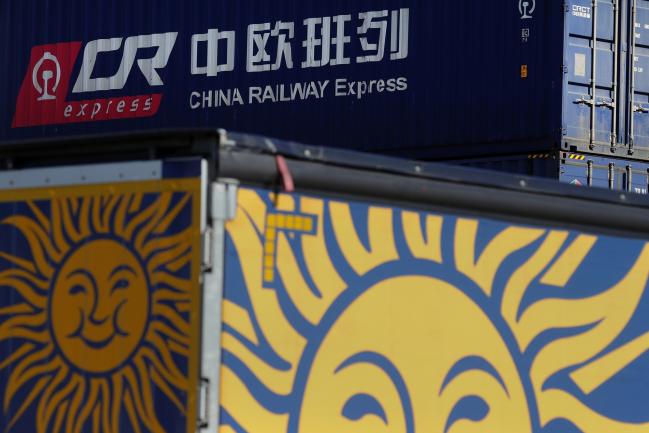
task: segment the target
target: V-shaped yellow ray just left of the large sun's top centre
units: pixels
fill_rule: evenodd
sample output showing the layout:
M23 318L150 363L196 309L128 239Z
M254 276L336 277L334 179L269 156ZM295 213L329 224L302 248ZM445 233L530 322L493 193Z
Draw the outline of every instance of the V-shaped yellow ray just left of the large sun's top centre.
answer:
M363 275L370 269L399 257L392 230L392 209L369 208L367 215L369 249L359 239L349 204L330 202L329 212L336 241L345 260L358 275Z

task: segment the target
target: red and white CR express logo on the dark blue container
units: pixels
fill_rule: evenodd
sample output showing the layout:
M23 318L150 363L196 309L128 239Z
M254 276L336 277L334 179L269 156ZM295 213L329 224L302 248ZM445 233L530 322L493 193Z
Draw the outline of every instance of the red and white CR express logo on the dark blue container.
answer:
M68 89L73 83L72 94L121 90L134 69L139 70L150 86L162 86L164 83L157 70L167 65L177 36L178 33L170 32L88 42L76 77L72 74L81 42L33 47L12 127L153 116L160 107L161 93L67 100ZM151 51L151 48L156 50ZM143 49L153 52L153 56L142 58L138 52ZM119 50L122 59L117 72L109 77L98 76L97 59Z

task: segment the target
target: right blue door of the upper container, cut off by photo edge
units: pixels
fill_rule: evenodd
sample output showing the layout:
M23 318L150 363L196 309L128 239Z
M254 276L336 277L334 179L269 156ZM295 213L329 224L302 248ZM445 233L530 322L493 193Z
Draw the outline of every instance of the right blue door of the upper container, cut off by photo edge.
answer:
M649 1L631 0L630 6L633 68L629 78L629 150L634 152L649 149Z

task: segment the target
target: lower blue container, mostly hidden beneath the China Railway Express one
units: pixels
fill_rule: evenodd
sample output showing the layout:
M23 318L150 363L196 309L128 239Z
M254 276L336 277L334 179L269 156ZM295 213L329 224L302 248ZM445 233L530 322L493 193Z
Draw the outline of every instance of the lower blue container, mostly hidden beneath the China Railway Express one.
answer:
M548 152L447 162L513 174L554 178L577 186L595 186L636 194L649 192L649 163L629 159Z

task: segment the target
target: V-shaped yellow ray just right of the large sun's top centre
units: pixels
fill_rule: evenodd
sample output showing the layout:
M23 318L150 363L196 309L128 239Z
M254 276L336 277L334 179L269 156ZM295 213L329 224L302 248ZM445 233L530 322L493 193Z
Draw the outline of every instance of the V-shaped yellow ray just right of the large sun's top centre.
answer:
M455 266L487 296L491 296L493 280L503 261L539 239L545 230L508 227L491 239L480 257L476 257L478 224L477 220L458 218L455 228Z

